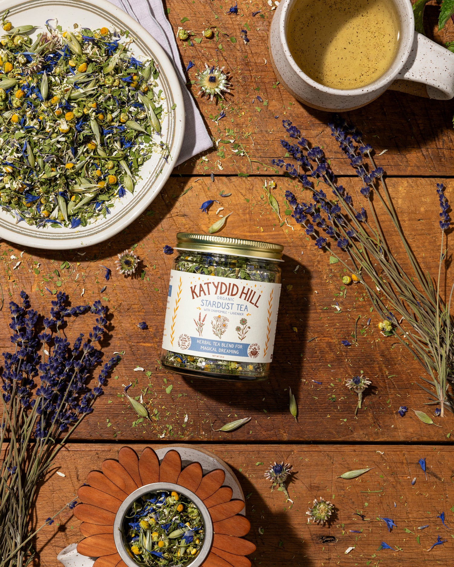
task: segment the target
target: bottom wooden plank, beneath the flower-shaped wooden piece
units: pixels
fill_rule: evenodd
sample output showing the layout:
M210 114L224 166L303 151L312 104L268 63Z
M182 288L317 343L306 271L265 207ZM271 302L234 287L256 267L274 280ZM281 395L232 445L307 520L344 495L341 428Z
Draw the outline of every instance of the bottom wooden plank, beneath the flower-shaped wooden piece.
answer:
M143 447L133 445L137 452ZM393 567L423 567L431 557L439 565L451 565L453 539L438 516L444 511L445 524L452 527L454 492L449 488L454 470L452 445L232 443L200 447L224 459L236 473L243 492L250 494L246 499L246 517L251 522L247 539L257 545L257 551L250 556L254 565L260 562L260 567L295 567L298 562L305 565L310 558L310 567L334 566L338 561L341 565L365 565L372 561L370 566L377 561L385 565L392 561ZM72 500L74 490L87 473L93 467L99 468L102 460L115 458L118 448L113 444L72 443L62 450L54 466L64 470L66 477L51 476L41 487L36 525L40 526L56 513L62 503ZM421 458L426 458L427 480L418 464ZM295 473L288 484L293 505L285 502L282 492L276 489L271 492L270 481L263 476L275 460L293 465ZM366 467L373 468L356 479L339 478L346 471ZM417 480L412 486L414 477ZM308 524L305 512L314 498L320 496L334 503L333 521L325 526ZM396 527L388 532L378 517L392 518ZM82 538L79 523L71 511L65 510L55 524L39 532L36 545L42 565L58 567L57 553ZM418 526L426 524L427 528L418 530ZM448 541L426 553L438 535ZM380 551L382 541L402 551ZM348 547L354 549L342 560Z

